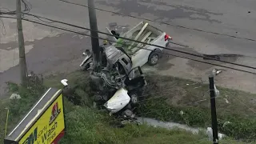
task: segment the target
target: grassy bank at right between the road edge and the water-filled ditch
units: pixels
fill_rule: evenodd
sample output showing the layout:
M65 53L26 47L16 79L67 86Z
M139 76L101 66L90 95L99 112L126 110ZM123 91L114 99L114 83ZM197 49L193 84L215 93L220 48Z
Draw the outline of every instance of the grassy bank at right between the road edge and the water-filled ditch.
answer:
M208 85L157 75L151 75L147 79L147 98L140 108L141 114L164 121L186 123L189 126L210 126ZM233 138L255 139L256 95L218 86L217 88L220 90L220 96L216 98L218 130ZM181 115L181 111L184 114ZM231 123L226 125L227 122Z

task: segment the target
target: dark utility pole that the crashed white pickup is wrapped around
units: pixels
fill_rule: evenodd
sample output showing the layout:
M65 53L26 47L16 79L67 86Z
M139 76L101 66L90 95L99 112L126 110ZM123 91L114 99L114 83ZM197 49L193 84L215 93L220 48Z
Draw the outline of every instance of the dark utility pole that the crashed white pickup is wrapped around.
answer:
M88 0L88 10L90 18L91 45L94 57L94 72L99 72L101 70L102 55L98 42L98 26L96 12L94 9L94 0Z

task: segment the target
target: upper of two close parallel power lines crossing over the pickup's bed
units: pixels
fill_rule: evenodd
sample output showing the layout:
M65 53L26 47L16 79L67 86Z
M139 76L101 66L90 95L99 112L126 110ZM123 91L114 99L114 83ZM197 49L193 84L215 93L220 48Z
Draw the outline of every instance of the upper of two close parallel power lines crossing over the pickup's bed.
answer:
M44 17L38 16L38 15L34 15L34 14L27 14L27 13L22 13L22 14L34 16L36 18L44 18ZM74 26L74 27L82 29L82 30L90 30L89 28L86 28L86 27L76 26L76 25L73 25L73 24L70 24L70 23L66 23L66 22L60 22L60 21L57 21L57 20L54 20L54 19L50 19L50 18L44 18L44 19L47 19L47 20L49 20L51 22L62 23L62 24L67 25L67 26ZM109 35L109 36L113 36L112 34L108 34L108 33L102 32L102 31L98 31L98 30L90 30L90 31L96 31L96 32L98 32L100 34L106 34L106 35ZM158 45L150 44L150 43L147 43L147 42L140 42L138 40L133 40L133 39L130 39L130 38L124 38L124 37L120 37L120 36L116 36L116 37L122 38L122 39L125 39L125 40L128 40L128 41L131 41L131 42L138 42L138 43L141 43L141 44L144 44L144 45L156 46L156 47L159 47L159 48L162 48L162 49L166 49L166 50L170 50L170 51L176 51L176 52L182 53L182 54L189 54L189 55L192 55L192 56L195 56L195 57L199 57L199 58L207 58L207 59L218 61L218 62L224 62L224 63L228 63L228 64L232 64L232 65L236 65L236 66L242 66L242 67L246 67L246 68L250 68L250 69L256 70L256 67L253 67L253 66L246 66L246 65L242 65L242 64L238 64L238 63L234 63L234 62L222 61L222 60L217 59L217 58L210 58L210 57L202 56L200 54L192 54L192 53L189 53L189 52L186 52L186 51L182 51L182 50L174 50L174 49L170 49L170 48L167 48L167 47L164 47L164 46L158 46ZM170 42L170 43L174 43L174 42ZM177 45L177 43L174 43L174 44Z

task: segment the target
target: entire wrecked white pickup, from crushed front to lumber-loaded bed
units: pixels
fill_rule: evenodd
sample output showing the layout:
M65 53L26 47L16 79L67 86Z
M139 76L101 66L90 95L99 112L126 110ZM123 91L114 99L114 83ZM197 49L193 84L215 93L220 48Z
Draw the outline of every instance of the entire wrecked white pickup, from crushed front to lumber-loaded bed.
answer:
M129 41L129 38L158 46L167 46L171 37L165 32L140 22L124 34L106 28L110 34L101 47L102 70L94 71L93 54L86 50L81 63L82 70L90 71L95 106L104 106L110 114L122 118L134 118L138 101L142 98L146 80L141 66L147 62L153 66L161 57L162 48ZM119 38L120 37L122 38Z

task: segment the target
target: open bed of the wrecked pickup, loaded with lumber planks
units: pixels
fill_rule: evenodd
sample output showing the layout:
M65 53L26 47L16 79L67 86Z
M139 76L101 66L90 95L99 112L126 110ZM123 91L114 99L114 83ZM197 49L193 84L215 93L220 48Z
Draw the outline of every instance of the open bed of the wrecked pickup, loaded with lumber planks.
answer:
M154 40L157 39L161 34L161 30L158 30L154 26L150 26L150 24L146 22L140 22L137 26L134 26L128 32L121 34L120 36L139 42L153 43ZM145 47L145 45L142 43L132 42L122 38L118 38L114 46L122 47L122 49L124 49L126 53L130 55L135 54L138 50L141 49L141 47Z

